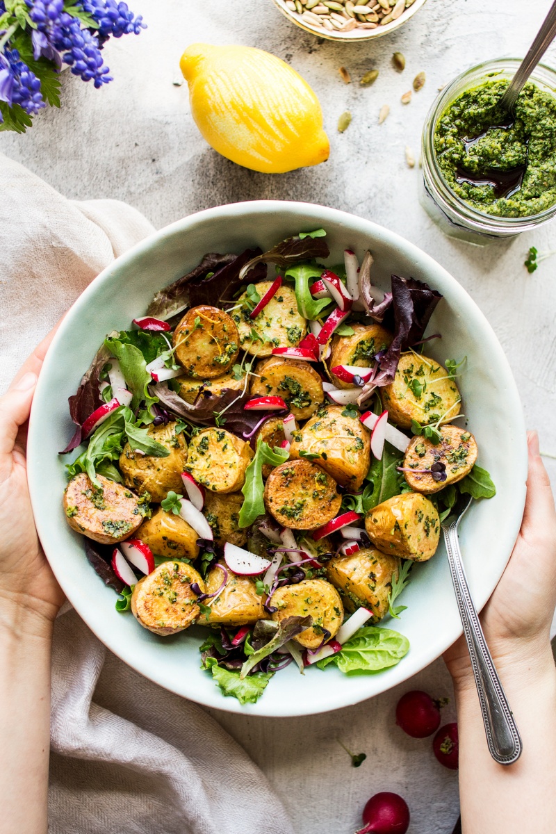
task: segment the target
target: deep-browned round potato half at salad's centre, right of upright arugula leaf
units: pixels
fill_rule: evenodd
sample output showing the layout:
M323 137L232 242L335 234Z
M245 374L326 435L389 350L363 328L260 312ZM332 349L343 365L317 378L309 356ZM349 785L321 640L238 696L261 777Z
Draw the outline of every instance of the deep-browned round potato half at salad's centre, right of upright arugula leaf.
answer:
M273 469L264 503L283 527L316 530L338 513L342 498L336 481L309 460L287 460Z

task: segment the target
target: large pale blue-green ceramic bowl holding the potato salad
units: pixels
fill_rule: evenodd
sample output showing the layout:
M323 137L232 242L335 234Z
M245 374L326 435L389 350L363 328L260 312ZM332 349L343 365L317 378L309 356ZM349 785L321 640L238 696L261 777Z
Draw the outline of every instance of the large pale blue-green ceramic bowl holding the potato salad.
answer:
M58 457L73 427L67 399L105 334L126 329L142 314L153 293L188 272L205 252L269 249L300 230L327 230L329 263L343 249L361 254L370 247L373 279L384 287L396 273L427 281L444 296L428 332L440 331L428 352L436 359L462 359L461 378L468 425L476 435L479 463L498 488L492 500L473 505L463 522L461 545L478 608L492 593L510 555L523 514L527 457L518 391L498 340L483 314L445 269L398 234L368 220L308 203L259 201L209 208L153 234L118 258L76 301L58 329L38 380L28 435L28 470L33 511L44 550L60 585L83 620L116 655L144 676L179 695L222 710L258 716L299 716L363 701L406 680L438 657L461 633L443 545L413 570L403 593L400 620L391 626L408 636L411 649L393 669L346 677L316 668L300 676L293 664L278 672L255 705L224 697L199 668L200 627L157 637L131 614L118 614L116 595L106 588L83 552L62 510L66 485ZM118 682L114 681L117 686Z

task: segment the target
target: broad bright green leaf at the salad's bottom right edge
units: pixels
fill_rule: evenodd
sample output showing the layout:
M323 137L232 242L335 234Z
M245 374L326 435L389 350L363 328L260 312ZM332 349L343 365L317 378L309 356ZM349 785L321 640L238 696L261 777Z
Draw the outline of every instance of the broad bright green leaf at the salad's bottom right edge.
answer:
M317 661L319 669L333 664L344 675L373 675L396 666L409 651L408 638L388 628L363 625L342 646L342 651Z

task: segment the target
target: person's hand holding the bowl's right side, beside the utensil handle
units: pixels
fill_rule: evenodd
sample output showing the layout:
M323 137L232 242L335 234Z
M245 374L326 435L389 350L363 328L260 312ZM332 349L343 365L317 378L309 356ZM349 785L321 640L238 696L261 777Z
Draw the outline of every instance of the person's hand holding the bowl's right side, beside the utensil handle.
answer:
M487 555L485 555L487 558ZM527 498L511 558L481 614L484 636L498 671L514 666L527 674L536 661L550 661L549 630L556 605L556 510L550 481L538 453L538 435L528 433ZM473 685L464 638L444 654L456 683Z

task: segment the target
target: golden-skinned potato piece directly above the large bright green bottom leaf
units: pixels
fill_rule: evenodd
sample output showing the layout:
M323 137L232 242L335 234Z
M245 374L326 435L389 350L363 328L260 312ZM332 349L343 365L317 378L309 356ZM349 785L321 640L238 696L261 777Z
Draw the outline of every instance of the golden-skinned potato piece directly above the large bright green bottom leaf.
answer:
M371 621L378 622L388 613L388 594L399 565L398 556L368 547L351 556L331 559L326 565L326 578L338 588L349 611L368 608L373 611Z

